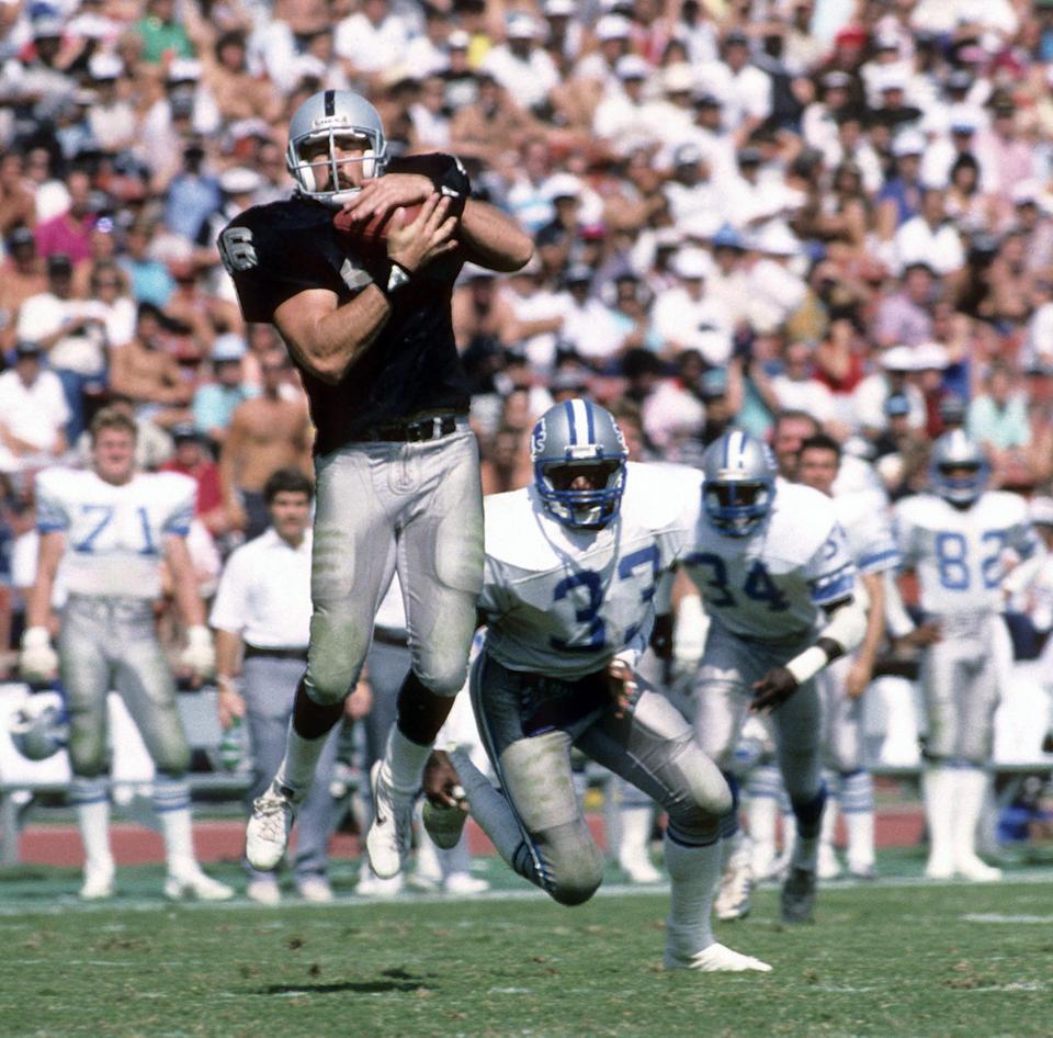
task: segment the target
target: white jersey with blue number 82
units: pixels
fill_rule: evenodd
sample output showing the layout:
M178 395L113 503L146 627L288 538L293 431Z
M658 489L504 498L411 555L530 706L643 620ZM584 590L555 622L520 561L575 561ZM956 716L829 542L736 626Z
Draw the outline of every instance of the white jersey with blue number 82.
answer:
M1005 490L987 490L970 508L936 494L905 497L895 506L894 527L929 616L1000 612L1007 552L1028 559L1041 550L1026 501Z

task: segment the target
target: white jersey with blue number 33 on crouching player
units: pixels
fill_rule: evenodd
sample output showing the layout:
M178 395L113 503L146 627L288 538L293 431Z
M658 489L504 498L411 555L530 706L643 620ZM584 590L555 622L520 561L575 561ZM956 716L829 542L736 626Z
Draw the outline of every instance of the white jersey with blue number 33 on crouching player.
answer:
M487 652L510 670L575 679L650 636L659 579L690 545L702 476L681 465L630 463L618 516L575 530L533 485L485 499L479 608Z

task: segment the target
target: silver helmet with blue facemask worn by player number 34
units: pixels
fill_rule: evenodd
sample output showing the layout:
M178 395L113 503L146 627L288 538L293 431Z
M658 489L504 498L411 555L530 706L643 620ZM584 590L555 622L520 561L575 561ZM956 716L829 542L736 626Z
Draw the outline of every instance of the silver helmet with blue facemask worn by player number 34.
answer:
M715 530L748 537L771 511L775 462L766 443L737 429L714 440L702 455L702 505Z

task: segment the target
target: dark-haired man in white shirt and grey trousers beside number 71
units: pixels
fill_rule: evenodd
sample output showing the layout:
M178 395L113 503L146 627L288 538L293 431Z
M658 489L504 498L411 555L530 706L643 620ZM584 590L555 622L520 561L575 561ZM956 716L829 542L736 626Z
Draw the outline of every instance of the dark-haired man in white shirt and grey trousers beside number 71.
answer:
M227 561L210 617L216 632L219 723L225 730L245 724L252 748L249 804L267 789L285 752L296 682L307 663L312 613L314 486L298 469L279 469L267 481L263 497L271 526ZM293 875L301 896L314 902L332 900L326 865L336 822L328 781L337 758L333 733L321 752L318 780L296 815ZM249 898L278 904L275 871L258 871L248 862L245 868Z

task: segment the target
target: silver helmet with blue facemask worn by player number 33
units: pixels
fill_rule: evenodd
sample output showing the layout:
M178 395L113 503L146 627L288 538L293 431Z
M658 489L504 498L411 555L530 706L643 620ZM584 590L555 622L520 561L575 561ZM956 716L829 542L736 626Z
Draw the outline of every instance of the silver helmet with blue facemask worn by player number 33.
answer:
M599 404L575 398L550 407L534 425L530 456L534 486L558 522L595 529L618 515L629 451L614 416ZM578 476L589 486L575 488Z

